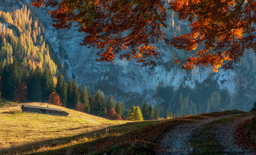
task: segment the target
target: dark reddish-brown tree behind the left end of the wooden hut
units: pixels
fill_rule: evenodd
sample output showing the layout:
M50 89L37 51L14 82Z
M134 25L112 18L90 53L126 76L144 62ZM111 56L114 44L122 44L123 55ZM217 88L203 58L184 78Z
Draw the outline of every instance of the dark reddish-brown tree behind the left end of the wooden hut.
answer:
M18 83L13 100L18 103L28 101L28 89L25 82Z

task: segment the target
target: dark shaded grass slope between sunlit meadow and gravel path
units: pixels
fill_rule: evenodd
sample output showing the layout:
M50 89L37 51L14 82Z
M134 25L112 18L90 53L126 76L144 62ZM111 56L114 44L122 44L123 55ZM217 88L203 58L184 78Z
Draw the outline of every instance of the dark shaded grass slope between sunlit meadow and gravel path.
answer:
M233 111L211 113L207 115L203 114L203 115L189 116L189 117L180 118L180 119L164 119L164 120L152 120L152 121L143 121L143 122L131 122L131 123L126 123L122 125L108 126L107 127L108 134L111 135L112 133L114 133L114 136L105 137L103 139L99 139L99 138L103 137L106 134L106 128L102 128L101 130L97 130L89 133L79 134L76 136L60 137L56 139L31 142L23 145L15 145L10 148L6 148L2 150L0 149L0 154L1 153L3 154L26 153L27 154L28 152L33 152L33 150L38 150L41 147L49 147L49 148L56 147L57 149L53 150L51 148L51 150L39 152L39 154L70 154L71 153L70 151L75 151L73 153L79 154L79 153L88 153L90 151L105 151L106 149L112 149L112 152L113 151L115 152L115 149L122 151L122 150L129 150L129 147L137 147L137 149L140 148L138 149L139 151L143 150L143 148L145 149L146 147L151 152L151 151L154 151L153 149L154 147L156 147L155 142L157 141L157 139L160 139L162 136L165 135L165 133L170 131L171 128L176 125L189 123L191 121L195 121L199 119L205 119L207 117L230 115L234 113L241 114L244 112L233 110ZM118 133L117 136L115 136L116 133ZM80 141L81 143L78 143L78 144L72 144L72 143L69 144L72 141L77 141L77 140L79 141L79 140L85 140L85 139L94 140L94 141L85 141L85 142ZM131 145L131 143L133 143L134 141L138 143L138 146L137 144ZM61 145L65 145L65 146L62 146L63 148L61 148ZM58 148L58 146L60 147ZM147 153L151 154L150 152L147 152ZM93 154L93 152L91 153ZM135 153L138 153L138 152L135 152Z

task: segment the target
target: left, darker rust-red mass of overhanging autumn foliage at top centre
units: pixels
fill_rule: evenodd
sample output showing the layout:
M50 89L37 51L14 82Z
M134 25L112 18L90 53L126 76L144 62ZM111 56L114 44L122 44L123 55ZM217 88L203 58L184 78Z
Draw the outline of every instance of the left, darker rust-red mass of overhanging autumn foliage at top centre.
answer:
M57 29L70 28L77 23L79 32L87 34L81 45L101 49L97 61L113 62L137 59L142 66L154 67L158 58L155 41L163 40L161 27L166 27L164 1L70 1L31 0L31 5L53 7L50 11ZM166 39L165 39L166 40Z

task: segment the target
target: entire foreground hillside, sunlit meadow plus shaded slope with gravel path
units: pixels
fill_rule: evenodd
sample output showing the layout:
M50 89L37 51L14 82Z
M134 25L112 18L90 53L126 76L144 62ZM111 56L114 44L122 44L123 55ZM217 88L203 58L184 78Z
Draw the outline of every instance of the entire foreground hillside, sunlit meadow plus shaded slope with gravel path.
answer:
M218 154L252 151L250 147L243 148L243 144L250 140L239 140L239 133L245 131L239 125L246 128L244 123L254 116L244 111L129 122L108 120L39 102L26 104L60 108L70 115L22 113L22 104L3 101L0 104L0 135L3 135L0 137L0 153L3 154Z

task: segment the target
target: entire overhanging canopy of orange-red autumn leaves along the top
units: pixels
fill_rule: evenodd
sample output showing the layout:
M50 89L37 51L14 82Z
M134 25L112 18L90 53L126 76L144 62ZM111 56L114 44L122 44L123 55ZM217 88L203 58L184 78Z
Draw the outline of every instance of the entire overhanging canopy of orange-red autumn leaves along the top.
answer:
M77 23L85 32L81 45L101 49L98 61L113 62L131 58L142 66L156 65L159 52L157 41L178 49L194 51L189 58L176 63L191 70L211 66L217 72L221 66L232 68L246 49L256 50L255 10L252 0L116 0L71 1L32 0L31 5L53 7L50 11L57 29L70 28ZM167 40L161 27L166 27L166 10L177 12L180 20L188 20L190 32Z

